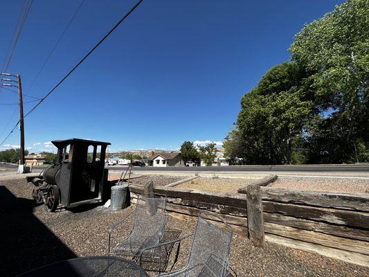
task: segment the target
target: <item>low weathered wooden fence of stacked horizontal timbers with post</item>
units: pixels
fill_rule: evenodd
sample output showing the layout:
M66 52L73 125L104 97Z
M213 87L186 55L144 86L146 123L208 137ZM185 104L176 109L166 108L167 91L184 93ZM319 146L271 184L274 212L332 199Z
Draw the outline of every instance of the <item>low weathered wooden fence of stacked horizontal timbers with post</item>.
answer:
M142 186L129 190L143 193ZM369 195L269 187L253 188L250 194L219 193L165 186L156 186L154 193L167 195L169 213L197 216L206 210L209 220L220 215L256 245L265 238L369 267Z

